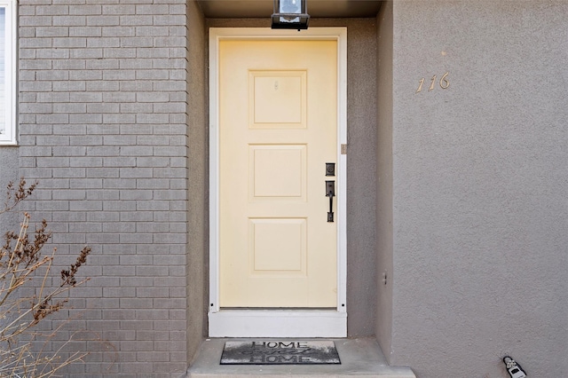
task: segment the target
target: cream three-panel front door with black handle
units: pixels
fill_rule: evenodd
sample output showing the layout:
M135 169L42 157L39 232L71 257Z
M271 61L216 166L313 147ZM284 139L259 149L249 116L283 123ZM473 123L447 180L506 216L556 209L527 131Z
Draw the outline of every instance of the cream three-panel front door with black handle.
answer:
M336 62L336 41L219 42L221 308L337 306Z

